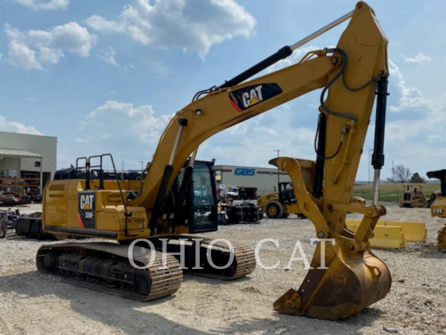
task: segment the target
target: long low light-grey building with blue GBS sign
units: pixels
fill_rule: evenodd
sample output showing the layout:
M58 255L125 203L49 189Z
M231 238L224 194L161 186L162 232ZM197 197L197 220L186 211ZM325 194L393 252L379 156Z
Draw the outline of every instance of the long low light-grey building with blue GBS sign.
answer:
M258 196L277 190L277 177L280 181L291 181L288 173L268 167L215 165L214 171L220 176L219 184L256 187Z

